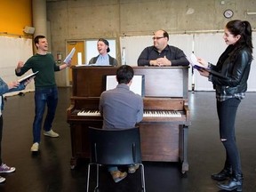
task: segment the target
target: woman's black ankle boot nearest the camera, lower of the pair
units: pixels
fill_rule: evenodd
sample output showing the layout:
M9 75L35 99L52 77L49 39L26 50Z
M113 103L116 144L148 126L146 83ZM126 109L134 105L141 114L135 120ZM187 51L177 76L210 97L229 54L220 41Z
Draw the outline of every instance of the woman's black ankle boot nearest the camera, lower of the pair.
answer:
M218 183L217 184L219 188L232 191L242 191L243 189L243 175L242 174L236 174L235 176L232 176L230 180L228 180L227 183Z

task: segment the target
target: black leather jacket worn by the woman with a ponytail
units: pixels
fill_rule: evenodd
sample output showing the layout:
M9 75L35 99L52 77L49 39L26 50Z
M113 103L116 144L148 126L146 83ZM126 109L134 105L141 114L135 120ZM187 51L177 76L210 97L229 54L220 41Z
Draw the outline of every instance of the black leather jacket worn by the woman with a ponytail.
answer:
M213 88L220 95L234 95L235 93L246 92L247 79L252 63L252 53L244 47L236 53L236 60L231 61L230 56L234 45L229 45L220 56L216 66L210 64L212 70L220 72L228 78L211 76Z

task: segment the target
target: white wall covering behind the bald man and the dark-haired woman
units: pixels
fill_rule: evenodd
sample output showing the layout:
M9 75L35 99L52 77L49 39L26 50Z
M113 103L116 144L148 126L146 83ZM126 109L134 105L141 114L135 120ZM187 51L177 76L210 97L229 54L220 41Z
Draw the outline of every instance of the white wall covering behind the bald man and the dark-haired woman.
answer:
M169 44L179 47L187 56L191 52L195 52L197 57L215 64L224 52L227 45L223 38L223 33L201 33L201 34L184 34L170 35ZM254 37L253 37L254 36ZM252 34L252 44L256 46L256 32ZM120 47L125 47L126 64L137 66L137 60L140 52L147 46L153 45L152 36L124 36L120 38ZM122 52L122 50L120 51ZM253 57L256 58L256 49L254 49ZM195 70L192 78L192 70L189 68L188 89L191 90L192 81L195 83L196 91L213 91L212 83L200 76ZM192 80L193 79L193 80ZM256 92L256 60L252 60L251 73L248 80L248 91Z

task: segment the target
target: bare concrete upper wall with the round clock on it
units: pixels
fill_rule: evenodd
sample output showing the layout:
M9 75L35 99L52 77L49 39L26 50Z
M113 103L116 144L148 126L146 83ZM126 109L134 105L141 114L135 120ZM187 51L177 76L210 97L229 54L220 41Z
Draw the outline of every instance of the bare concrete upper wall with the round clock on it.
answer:
M170 34L220 32L230 20L223 16L226 9L233 10L232 20L248 20L256 28L256 14L246 14L256 12L255 0L47 0L52 53L66 53L70 39L116 38L121 60L121 36L148 36L159 28Z

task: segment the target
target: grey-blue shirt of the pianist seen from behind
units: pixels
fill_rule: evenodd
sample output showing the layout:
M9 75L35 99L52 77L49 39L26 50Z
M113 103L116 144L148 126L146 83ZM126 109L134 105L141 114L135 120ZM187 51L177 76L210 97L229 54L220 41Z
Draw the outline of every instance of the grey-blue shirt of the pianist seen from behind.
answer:
M143 100L130 91L127 84L118 84L115 89L102 92L99 109L103 129L132 128L143 118Z

